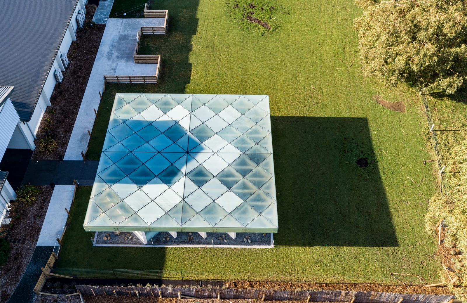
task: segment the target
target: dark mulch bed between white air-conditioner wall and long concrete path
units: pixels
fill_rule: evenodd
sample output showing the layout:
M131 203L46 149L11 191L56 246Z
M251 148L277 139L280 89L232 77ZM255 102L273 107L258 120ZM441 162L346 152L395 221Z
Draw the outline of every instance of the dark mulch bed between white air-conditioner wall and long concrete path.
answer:
M92 20L94 11L94 5L86 6L86 21ZM76 33L67 54L70 64L63 72L62 83L55 86L50 97L52 106L46 109L35 139L37 146L40 139L51 136L57 141L57 149L50 154L36 149L32 159L58 160L64 156L105 27L95 24Z

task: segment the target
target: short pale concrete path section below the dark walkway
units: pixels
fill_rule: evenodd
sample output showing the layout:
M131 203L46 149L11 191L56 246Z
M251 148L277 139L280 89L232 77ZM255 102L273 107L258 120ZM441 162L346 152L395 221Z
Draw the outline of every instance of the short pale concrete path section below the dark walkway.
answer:
M73 185L57 185L50 198L49 208L45 214L37 246L54 246L60 237L68 218L66 209L70 209L75 187Z

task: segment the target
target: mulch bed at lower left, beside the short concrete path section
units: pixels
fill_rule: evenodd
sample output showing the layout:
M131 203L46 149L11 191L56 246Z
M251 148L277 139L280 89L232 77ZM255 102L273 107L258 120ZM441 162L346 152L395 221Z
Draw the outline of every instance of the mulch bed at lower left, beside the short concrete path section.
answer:
M31 206L23 207L13 202L10 210L11 226L3 225L1 237L10 241L10 255L6 264L0 267L0 302L7 302L16 284L28 266L34 252L37 238L41 232L47 208L49 207L52 188L39 186L41 194Z

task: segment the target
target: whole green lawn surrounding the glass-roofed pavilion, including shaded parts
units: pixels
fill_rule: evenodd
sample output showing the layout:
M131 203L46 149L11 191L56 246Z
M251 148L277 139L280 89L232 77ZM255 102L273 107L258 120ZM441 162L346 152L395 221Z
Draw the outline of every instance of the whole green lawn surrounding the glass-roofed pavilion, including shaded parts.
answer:
M435 162L415 92L364 78L354 0L283 0L270 36L242 31L225 0L160 0L170 33L145 36L162 55L162 82L107 85L89 153L100 153L117 92L269 94L279 212L274 249L92 247L82 228L91 188L79 188L58 267L260 273L335 281L390 281L390 272L437 278L424 231ZM114 9L143 1L116 0ZM131 4L131 5L130 5ZM373 96L403 101L390 111ZM427 150L427 151L425 151ZM367 167L357 160L366 158ZM362 164L362 162L359 162Z

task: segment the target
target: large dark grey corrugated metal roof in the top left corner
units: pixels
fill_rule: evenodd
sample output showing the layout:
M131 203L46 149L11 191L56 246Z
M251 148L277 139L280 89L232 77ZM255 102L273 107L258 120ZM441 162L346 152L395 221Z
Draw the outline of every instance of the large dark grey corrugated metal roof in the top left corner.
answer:
M78 0L0 0L0 83L29 121Z

